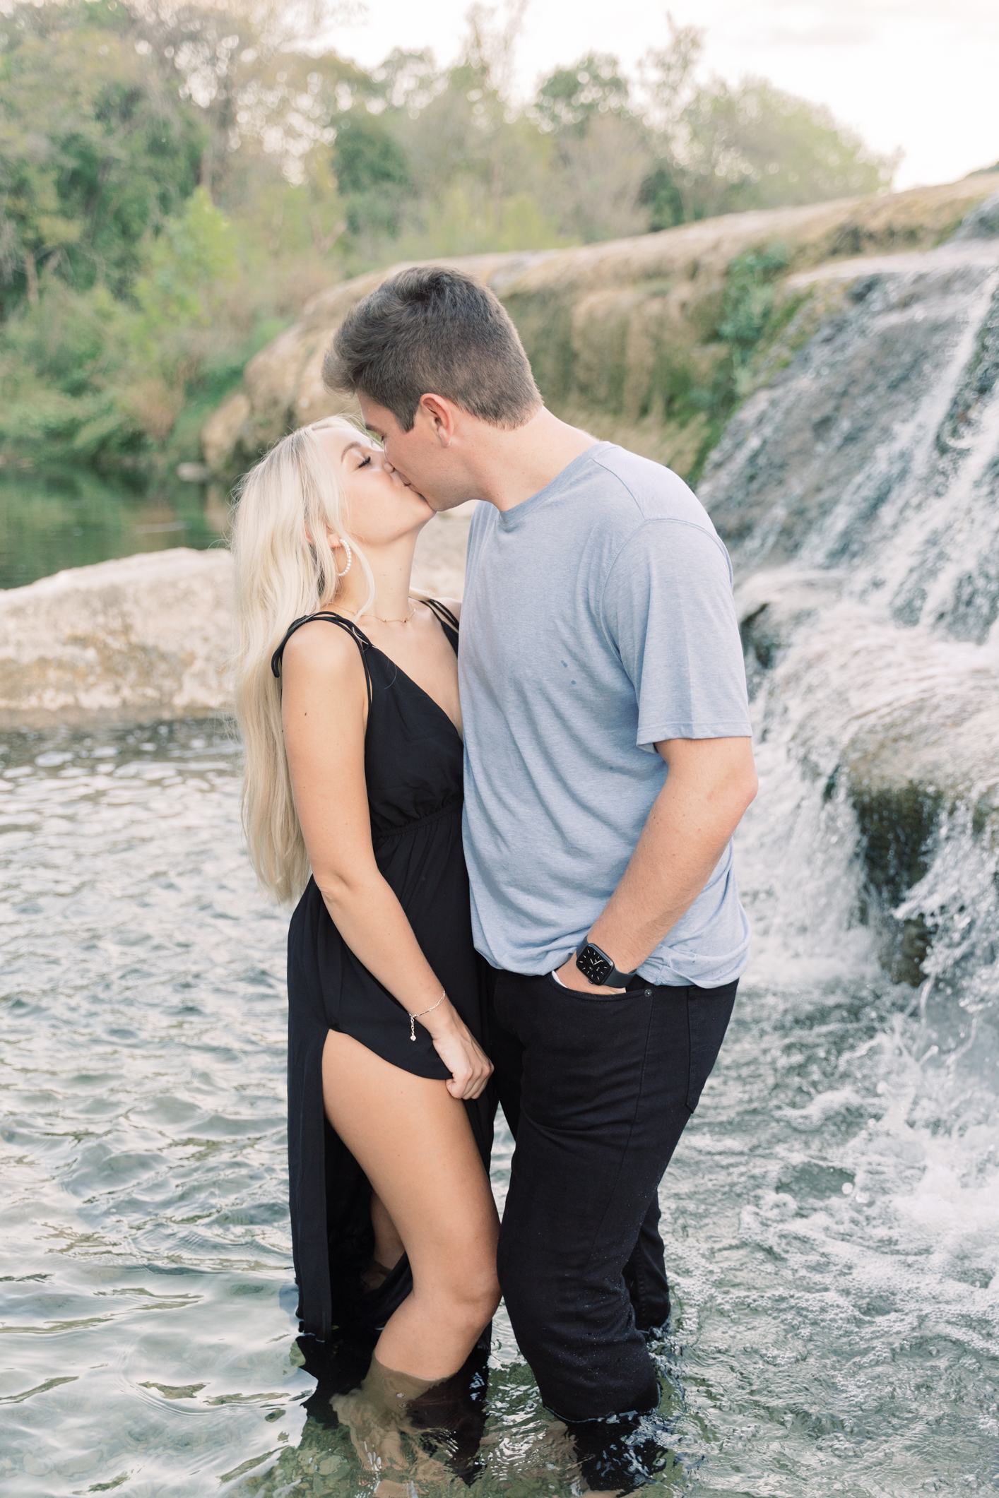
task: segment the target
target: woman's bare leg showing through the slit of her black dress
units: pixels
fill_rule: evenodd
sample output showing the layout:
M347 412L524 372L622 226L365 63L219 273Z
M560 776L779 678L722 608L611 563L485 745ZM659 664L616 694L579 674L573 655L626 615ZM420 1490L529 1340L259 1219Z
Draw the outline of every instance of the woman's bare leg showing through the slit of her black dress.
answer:
M330 1031L327 1116L371 1182L409 1254L412 1294L374 1350L383 1368L457 1372L499 1305L499 1219L464 1104Z

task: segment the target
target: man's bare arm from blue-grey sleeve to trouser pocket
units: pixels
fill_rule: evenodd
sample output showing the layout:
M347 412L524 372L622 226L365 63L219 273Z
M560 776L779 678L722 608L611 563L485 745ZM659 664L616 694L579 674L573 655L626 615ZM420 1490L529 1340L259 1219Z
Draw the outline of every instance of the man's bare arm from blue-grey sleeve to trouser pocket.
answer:
M590 941L631 972L696 900L756 794L752 739L666 739L656 745L669 774L646 819L622 881L590 927ZM568 989L587 983L575 953L557 971Z

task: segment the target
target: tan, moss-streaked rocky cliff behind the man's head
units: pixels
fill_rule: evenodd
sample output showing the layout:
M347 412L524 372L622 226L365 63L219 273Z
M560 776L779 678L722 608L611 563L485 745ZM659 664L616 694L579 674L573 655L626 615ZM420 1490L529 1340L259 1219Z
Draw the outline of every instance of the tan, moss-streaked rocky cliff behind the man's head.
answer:
M815 331L837 283L801 271L929 249L996 187L944 187L728 214L610 244L452 261L509 310L545 400L601 437L696 470L732 406ZM749 259L746 259L749 256ZM333 286L250 361L207 422L210 467L231 476L282 433L341 409L322 357L346 312L400 267Z

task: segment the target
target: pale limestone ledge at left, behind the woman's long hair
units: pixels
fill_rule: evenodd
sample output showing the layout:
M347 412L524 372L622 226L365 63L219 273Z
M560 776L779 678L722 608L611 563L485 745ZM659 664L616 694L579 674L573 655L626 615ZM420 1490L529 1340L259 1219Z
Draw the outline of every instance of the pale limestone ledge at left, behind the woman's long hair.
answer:
M0 593L0 730L231 710L232 559L178 547Z

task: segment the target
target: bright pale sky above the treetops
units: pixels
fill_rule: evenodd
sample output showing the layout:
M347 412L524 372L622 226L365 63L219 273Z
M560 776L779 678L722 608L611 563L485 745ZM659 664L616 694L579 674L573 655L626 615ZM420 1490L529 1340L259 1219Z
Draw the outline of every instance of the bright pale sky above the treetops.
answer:
M999 160L999 0L527 0L521 97L589 51L626 66L665 43L665 10L704 27L707 70L746 73L827 103L879 151L905 151L897 187L953 181ZM454 61L467 0L367 0L338 51L374 66L394 46ZM497 4L497 18L503 13Z

